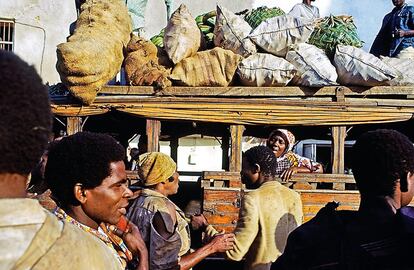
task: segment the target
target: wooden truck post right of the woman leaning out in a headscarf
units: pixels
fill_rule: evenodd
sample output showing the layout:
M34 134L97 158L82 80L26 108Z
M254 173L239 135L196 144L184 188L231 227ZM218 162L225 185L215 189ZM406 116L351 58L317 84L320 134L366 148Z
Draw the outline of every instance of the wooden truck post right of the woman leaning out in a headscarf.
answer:
M346 127L332 127L332 173L343 174L345 172L345 138ZM334 189L345 190L344 183L334 183Z

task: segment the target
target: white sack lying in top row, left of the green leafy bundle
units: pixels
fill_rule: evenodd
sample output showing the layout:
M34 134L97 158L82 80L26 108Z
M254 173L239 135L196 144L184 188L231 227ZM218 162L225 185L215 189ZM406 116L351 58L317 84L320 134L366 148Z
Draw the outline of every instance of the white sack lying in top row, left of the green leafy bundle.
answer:
M313 28L313 22L282 15L265 20L252 31L249 37L266 52L285 57L288 47L306 42Z

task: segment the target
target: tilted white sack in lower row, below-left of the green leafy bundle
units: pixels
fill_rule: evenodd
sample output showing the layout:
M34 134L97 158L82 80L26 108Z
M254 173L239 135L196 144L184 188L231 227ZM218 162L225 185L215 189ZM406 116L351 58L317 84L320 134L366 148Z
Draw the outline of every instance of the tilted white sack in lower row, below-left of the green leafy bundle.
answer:
M338 84L335 67L325 52L314 45L301 43L291 46L286 60L298 70L292 80L293 85L322 87Z

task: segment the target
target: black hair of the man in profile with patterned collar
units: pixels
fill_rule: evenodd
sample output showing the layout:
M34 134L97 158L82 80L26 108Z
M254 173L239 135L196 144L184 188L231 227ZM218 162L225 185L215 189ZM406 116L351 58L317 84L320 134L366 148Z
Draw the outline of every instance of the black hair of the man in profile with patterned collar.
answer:
M110 163L123 161L124 147L106 134L79 132L49 150L45 179L62 208L79 205L74 187L95 188L111 175Z

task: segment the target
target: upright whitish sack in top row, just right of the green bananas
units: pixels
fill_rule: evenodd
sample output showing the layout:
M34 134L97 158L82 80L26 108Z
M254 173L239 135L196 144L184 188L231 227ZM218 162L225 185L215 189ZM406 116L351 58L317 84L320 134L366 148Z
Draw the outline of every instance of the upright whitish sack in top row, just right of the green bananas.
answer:
M247 57L256 52L256 45L248 38L252 28L240 16L217 6L214 45Z

